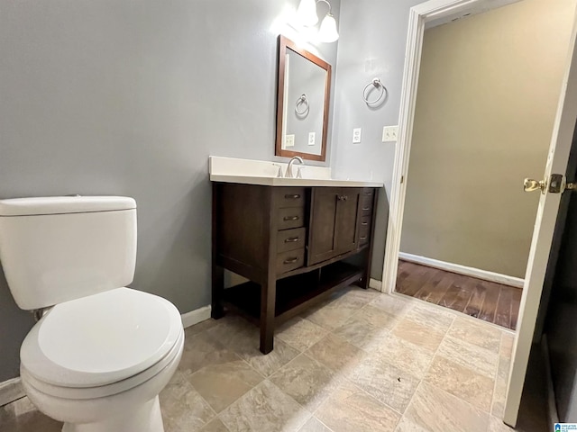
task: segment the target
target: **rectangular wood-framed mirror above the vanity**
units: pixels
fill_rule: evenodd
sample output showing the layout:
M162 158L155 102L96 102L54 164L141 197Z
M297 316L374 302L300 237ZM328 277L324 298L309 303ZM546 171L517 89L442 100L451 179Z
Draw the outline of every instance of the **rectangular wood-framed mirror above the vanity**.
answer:
M331 65L279 36L276 156L325 161Z

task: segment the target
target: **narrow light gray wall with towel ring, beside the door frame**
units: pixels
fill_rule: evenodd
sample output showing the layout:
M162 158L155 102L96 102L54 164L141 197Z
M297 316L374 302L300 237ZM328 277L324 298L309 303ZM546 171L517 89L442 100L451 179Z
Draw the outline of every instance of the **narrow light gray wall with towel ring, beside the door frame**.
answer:
M334 110L332 163L341 178L385 183L379 196L371 277L380 280L385 250L394 143L383 143L382 128L398 124L408 12L423 0L349 0L341 5ZM374 77L389 90L376 109L362 100ZM362 143L353 144L353 128L362 128Z

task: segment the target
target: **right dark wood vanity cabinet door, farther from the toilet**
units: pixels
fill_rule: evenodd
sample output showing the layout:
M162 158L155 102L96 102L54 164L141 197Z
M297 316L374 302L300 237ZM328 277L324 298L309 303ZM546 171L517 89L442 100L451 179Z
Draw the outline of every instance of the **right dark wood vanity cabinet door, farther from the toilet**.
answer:
M337 198L334 244L339 254L349 252L358 245L357 220L362 190L343 187Z

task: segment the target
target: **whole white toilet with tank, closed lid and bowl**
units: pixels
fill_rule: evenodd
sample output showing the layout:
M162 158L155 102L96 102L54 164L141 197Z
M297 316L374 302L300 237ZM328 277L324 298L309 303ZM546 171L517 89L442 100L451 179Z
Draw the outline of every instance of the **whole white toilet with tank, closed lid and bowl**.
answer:
M0 261L14 300L45 311L20 351L25 392L63 432L162 432L159 393L184 330L165 299L124 288L136 262L136 202L0 200Z

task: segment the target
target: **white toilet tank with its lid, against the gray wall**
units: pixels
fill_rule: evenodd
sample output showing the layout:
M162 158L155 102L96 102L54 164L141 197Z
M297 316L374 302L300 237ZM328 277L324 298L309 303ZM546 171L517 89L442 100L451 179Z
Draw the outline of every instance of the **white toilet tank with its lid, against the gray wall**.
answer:
M122 196L0 200L0 262L24 310L133 282L136 202Z

